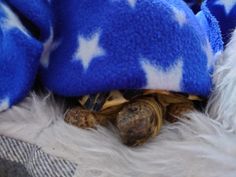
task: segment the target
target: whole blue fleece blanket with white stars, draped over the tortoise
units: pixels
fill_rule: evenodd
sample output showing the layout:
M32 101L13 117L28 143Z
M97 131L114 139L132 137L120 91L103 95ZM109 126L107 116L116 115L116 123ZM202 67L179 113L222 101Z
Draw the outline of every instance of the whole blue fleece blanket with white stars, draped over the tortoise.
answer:
M235 17L225 2L204 3L195 15L182 0L0 0L0 110L24 98L37 73L63 96L115 89L208 96L223 49L217 13Z

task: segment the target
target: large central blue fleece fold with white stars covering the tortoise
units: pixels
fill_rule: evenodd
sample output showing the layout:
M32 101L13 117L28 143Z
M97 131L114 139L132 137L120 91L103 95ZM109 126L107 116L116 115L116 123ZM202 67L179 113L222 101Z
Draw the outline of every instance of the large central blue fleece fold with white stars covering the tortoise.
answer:
M147 88L209 94L214 54L184 1L57 0L52 7L55 40L41 76L53 92Z

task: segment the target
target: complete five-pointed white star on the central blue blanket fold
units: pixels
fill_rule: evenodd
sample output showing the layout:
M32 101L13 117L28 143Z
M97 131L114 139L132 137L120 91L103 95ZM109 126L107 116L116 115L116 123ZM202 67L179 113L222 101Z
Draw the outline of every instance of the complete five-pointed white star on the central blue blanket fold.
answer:
M105 50L99 46L100 33L95 33L90 38L78 37L78 49L74 55L75 60L80 60L84 69L88 69L91 61L96 57L106 54Z

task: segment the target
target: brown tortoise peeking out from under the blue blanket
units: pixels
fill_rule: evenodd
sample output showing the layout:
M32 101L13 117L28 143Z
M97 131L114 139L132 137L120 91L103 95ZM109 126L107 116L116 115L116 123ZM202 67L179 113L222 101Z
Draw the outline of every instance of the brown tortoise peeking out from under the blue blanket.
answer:
M115 90L80 97L65 121L84 129L111 122L125 145L138 146L155 137L164 120L176 122L200 101L198 96L169 91Z

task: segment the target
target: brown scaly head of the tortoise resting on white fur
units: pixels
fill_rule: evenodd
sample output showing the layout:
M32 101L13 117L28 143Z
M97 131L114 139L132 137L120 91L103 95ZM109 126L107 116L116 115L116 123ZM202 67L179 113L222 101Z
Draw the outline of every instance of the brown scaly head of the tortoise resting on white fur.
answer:
M136 100L124 106L117 116L117 128L123 143L137 146L156 135L162 124L162 110L159 108L151 99Z

